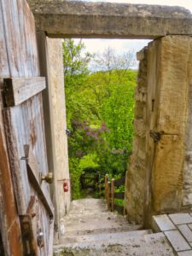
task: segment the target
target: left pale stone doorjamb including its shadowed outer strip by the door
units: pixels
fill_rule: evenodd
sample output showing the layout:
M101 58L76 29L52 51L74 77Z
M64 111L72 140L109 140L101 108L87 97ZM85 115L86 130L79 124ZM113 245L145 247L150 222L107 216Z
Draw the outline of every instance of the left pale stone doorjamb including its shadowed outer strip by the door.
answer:
M44 121L49 172L54 173L51 197L55 207L56 235L63 232L62 217L67 213L71 201L61 39L47 38L44 32L38 32L38 49L41 75L47 79L43 96ZM69 184L66 193L63 191L64 178Z

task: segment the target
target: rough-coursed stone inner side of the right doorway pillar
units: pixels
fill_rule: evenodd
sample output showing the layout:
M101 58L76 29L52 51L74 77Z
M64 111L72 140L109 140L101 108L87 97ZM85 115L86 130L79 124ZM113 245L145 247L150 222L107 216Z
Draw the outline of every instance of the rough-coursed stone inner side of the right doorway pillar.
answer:
M134 142L126 177L125 201L128 218L143 223L143 200L146 160L147 48L137 53L140 61L135 90Z

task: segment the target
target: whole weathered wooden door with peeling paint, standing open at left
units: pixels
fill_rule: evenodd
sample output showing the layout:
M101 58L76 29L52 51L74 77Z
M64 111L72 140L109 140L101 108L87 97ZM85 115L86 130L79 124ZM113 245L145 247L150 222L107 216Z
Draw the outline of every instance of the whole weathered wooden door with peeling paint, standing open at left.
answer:
M0 232L5 255L52 255L54 213L41 96L45 79L39 74L35 23L26 0L0 1Z

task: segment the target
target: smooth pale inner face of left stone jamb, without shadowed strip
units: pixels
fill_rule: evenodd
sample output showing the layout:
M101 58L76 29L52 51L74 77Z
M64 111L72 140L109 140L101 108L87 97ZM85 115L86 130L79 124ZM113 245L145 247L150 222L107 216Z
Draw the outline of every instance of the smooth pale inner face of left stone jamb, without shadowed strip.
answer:
M67 149L66 105L62 61L62 40L47 38L49 57L49 108L53 134L53 150L55 154L55 189L59 218L68 211L70 205L70 189L63 191L63 178L67 179L70 188Z

